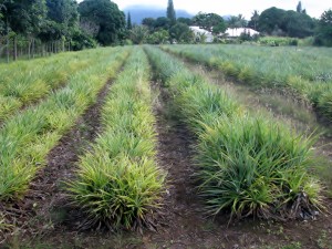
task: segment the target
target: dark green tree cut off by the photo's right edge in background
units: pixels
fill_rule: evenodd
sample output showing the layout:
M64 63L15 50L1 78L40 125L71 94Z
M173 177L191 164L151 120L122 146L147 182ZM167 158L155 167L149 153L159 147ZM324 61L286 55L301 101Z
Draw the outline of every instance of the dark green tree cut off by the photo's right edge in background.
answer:
M322 13L315 33L315 44L332 46L332 10Z

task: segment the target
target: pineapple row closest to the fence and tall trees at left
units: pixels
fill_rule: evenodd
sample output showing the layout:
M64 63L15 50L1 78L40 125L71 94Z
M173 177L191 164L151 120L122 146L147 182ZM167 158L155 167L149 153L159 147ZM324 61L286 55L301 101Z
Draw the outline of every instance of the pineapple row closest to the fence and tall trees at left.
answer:
M103 51L62 53L0 66L0 121L64 85L93 63L94 53L101 55Z

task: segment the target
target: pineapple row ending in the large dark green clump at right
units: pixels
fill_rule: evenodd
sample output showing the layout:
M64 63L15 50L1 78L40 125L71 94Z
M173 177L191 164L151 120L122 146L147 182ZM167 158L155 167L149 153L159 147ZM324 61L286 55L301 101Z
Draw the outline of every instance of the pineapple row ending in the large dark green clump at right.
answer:
M145 50L170 91L174 112L196 135L195 177L208 214L228 210L231 217L278 219L314 215L321 207L321 185L308 172L314 167L313 138L249 114L175 58L156 48Z

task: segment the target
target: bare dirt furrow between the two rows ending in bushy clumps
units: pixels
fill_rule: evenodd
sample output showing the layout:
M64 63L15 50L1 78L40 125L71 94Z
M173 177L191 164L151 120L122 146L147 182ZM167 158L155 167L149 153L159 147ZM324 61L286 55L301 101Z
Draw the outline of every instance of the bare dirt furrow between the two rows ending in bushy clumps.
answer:
M158 234L151 235L151 242L158 245L191 245L193 238L203 239L203 206L196 195L193 179L193 136L184 124L177 121L169 107L169 96L158 83L154 85L159 94L156 104L156 129L158 134L158 163L167 172L168 189L165 199L164 218ZM170 246L170 245L167 245ZM148 248L148 246L146 245Z

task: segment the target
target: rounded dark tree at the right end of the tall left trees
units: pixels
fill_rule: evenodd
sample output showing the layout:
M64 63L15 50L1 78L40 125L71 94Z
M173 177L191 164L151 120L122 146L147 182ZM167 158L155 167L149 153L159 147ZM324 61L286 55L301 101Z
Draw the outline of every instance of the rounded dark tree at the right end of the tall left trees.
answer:
M110 45L123 39L125 14L110 0L84 0L79 6L81 22L98 28L95 39L102 45Z

